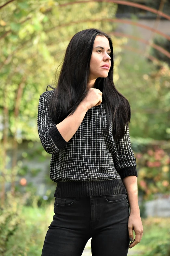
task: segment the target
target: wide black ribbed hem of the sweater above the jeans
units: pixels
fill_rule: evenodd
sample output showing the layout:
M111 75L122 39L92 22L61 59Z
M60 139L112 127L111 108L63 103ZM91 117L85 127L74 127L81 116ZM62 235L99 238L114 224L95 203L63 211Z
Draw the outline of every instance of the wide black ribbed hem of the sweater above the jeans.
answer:
M127 194L122 179L58 181L54 197L84 197Z

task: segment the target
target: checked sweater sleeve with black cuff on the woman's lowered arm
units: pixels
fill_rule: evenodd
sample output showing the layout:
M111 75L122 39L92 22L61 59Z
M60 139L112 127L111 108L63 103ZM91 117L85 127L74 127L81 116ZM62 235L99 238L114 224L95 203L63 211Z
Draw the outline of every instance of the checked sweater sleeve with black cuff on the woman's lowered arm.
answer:
M123 135L121 139L115 141L120 167L117 169L121 179L124 179L127 176L138 176L136 170L136 158L132 151L130 135L129 135L129 126L127 127L126 134Z

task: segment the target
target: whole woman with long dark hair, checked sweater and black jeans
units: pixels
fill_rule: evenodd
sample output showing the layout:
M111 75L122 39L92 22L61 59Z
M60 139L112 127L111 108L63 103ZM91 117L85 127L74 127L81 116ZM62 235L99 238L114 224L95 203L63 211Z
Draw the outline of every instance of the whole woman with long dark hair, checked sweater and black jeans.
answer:
M38 133L57 182L42 256L82 255L90 238L93 256L125 256L141 241L130 104L114 86L113 66L110 37L82 30L68 44L56 88L40 96Z

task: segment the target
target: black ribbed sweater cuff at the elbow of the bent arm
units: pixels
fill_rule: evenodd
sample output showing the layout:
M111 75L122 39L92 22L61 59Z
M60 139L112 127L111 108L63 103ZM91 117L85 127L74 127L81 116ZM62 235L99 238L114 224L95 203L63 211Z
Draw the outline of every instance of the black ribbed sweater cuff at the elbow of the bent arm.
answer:
M56 126L49 130L49 134L58 149L63 148L68 142L64 140Z

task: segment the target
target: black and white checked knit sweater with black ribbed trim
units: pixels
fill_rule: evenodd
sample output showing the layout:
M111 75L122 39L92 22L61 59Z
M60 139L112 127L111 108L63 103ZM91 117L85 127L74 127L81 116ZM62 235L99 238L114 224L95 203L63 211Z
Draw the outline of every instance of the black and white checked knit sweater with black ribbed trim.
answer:
M50 179L57 182L56 196L102 196L127 193L122 179L135 175L136 159L132 151L129 127L123 138L114 141L112 123L106 128L103 102L89 109L78 130L66 142L49 114L54 91L40 95L37 127L42 146L49 154ZM104 111L103 121L101 112Z

